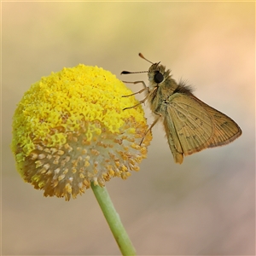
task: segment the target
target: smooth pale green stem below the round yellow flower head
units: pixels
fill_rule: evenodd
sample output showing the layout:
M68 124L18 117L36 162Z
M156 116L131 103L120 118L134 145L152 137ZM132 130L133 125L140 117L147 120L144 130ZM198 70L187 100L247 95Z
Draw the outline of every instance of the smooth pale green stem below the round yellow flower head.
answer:
M118 243L121 253L123 255L136 255L135 248L133 247L129 236L121 223L119 214L113 207L113 203L108 195L108 190L105 187L102 188L98 185L94 185L93 183L91 183L91 189L102 208L102 212L107 219L110 230L113 233L115 241Z

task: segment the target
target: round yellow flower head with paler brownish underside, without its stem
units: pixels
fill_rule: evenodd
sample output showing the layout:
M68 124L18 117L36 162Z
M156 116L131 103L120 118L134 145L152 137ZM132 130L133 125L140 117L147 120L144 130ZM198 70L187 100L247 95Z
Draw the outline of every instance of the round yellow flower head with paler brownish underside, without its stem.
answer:
M45 196L76 198L90 182L131 175L152 139L143 108L99 67L63 68L32 84L13 118L12 151L21 177ZM143 140L143 143L141 143Z

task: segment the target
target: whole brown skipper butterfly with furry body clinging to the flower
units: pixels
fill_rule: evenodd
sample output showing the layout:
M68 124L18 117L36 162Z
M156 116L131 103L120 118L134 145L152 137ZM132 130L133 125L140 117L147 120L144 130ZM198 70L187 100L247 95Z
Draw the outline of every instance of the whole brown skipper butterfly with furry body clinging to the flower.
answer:
M139 56L148 61L141 53ZM233 119L205 102L201 102L192 93L189 85L184 82L177 83L172 79L171 71L160 65L160 62L148 62L152 64L147 72L148 86L143 81L124 82L143 84L143 90L137 93L147 91L147 96L138 104L148 101L156 117L148 131L151 131L159 119L162 119L168 144L176 163L182 164L184 156L200 152L205 148L231 143L241 136L241 128ZM121 74L129 73L142 72L123 71Z

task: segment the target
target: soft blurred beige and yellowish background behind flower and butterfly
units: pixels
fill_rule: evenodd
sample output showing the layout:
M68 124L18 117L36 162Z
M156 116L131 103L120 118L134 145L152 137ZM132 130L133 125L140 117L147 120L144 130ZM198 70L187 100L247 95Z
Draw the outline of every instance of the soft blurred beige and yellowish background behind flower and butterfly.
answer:
M2 253L119 255L89 189L44 198L10 152L12 116L32 83L79 63L147 82L150 64L241 126L234 143L176 165L159 123L148 159L107 183L138 255L255 254L255 3L2 3ZM128 84L131 90L140 84ZM137 96L141 99L143 96ZM145 105L148 124L154 117Z

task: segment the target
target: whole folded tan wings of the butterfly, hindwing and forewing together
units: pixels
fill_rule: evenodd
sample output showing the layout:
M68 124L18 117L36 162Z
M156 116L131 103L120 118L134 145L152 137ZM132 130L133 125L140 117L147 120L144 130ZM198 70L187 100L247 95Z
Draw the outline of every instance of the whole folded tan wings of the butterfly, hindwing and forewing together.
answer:
M236 123L193 95L174 93L166 105L164 124L174 160L232 142L241 135Z

